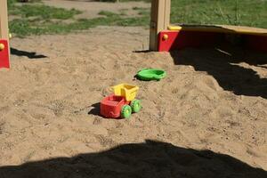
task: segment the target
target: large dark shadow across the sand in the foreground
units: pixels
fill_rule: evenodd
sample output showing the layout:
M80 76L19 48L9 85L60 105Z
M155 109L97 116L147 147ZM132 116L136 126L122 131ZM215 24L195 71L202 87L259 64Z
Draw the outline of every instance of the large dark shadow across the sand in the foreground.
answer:
M228 155L166 142L119 145L73 158L52 158L0 167L1 178L266 178L267 172Z

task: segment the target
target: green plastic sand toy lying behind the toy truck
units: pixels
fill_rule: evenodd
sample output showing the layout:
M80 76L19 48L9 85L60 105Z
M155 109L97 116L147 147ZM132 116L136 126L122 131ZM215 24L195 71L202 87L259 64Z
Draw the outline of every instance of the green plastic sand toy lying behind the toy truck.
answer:
M137 73L136 77L144 81L160 80L166 77L166 71L161 69L142 69Z

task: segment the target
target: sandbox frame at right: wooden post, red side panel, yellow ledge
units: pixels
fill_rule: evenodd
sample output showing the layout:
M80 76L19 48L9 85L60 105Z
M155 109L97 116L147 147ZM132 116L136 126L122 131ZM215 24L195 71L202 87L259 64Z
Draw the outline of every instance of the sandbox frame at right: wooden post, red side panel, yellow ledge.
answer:
M231 43L229 36L239 36L244 48L267 52L267 29L239 26L172 26L171 0L152 0L150 50L168 52L184 47L215 46Z

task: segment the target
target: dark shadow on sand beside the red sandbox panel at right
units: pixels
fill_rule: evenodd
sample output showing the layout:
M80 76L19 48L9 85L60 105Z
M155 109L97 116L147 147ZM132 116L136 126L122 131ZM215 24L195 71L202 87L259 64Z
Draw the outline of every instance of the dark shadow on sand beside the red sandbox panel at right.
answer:
M266 69L267 54L238 49L234 46L214 49L184 49L171 52L176 65L190 65L213 76L224 90L237 95L267 98L267 78L251 68ZM239 65L246 62L249 68Z

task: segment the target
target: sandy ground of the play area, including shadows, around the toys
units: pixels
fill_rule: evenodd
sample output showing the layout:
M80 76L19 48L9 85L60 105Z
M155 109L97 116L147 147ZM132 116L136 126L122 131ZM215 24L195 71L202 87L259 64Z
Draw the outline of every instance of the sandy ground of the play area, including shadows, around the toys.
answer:
M13 38L0 70L0 177L267 177L266 54L147 52L144 28ZM142 68L165 69L142 82ZM142 111L99 116L109 86Z

